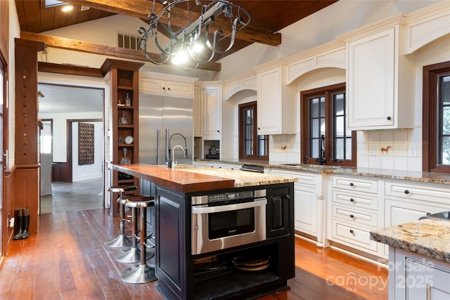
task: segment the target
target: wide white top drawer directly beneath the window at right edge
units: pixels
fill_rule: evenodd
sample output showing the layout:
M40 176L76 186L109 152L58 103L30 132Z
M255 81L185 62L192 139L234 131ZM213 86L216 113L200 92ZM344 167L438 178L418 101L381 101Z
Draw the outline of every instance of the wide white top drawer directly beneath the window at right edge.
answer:
M386 181L385 195L450 204L450 188L439 188L437 186Z

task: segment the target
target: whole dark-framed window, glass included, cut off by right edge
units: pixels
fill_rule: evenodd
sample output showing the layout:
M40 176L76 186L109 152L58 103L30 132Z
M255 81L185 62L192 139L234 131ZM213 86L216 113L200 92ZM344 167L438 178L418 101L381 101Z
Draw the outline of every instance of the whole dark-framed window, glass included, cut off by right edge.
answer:
M423 67L423 171L450 173L450 61Z

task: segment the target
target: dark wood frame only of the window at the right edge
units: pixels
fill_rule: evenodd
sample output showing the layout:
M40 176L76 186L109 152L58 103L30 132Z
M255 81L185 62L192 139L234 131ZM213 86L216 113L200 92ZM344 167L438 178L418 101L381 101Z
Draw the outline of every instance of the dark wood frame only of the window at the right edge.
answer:
M422 170L424 172L450 173L450 166L437 164L437 76L450 70L450 61L423 67L422 110ZM434 154L433 154L434 153Z

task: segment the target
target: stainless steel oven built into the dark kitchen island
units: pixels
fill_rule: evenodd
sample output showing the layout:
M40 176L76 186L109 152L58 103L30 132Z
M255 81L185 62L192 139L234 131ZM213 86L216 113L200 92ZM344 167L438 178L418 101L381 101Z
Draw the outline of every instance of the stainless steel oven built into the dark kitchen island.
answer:
M191 197L192 254L266 240L266 190Z

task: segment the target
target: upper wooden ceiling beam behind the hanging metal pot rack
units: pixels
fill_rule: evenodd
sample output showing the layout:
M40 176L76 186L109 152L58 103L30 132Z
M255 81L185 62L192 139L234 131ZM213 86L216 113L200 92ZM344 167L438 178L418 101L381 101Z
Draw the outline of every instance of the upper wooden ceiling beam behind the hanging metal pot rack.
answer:
M110 13L120 13L122 15L131 15L136 18L147 20L148 14L153 9L153 1L142 0L68 0L71 4L89 6L101 11L109 11ZM159 1L158 1L159 2ZM155 13L158 15L164 6L162 4L155 3ZM200 17L200 13L191 11L191 19L196 20ZM167 23L167 14L161 18L162 22ZM188 11L174 7L172 9L171 23L174 27L186 26L186 20L188 20ZM218 22L212 22L210 29L212 32L215 30L222 30L224 35L231 34L231 20L222 20ZM260 43L270 46L278 46L281 44L281 34L270 32L262 28L252 27L248 25L236 32L236 39L242 41L248 41L251 43Z

